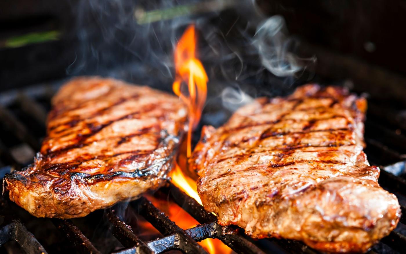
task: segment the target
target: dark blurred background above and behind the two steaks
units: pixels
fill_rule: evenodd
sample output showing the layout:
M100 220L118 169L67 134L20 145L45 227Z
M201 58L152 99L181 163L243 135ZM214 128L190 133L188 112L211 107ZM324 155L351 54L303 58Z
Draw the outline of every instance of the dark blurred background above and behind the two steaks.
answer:
M172 29L172 21L138 25L132 14L140 6L154 10L194 2L199 1L1 1L0 89L80 74L114 76L118 69L131 73L128 75L134 82L153 82L151 77L171 82L173 38L179 37L185 26ZM238 52L245 47L240 44L244 38L238 32L249 24L246 33L252 35L257 19L244 4L235 2L232 8L215 14L204 13L197 18L205 16L198 26L202 37L214 27L227 43L233 44L229 48ZM317 57L317 64L309 68L311 74L304 81L350 80L355 91L367 91L371 96L394 98L402 103L406 95L406 2L257 0L257 8L264 17L283 15L290 35L300 41L298 52ZM183 22L194 19L189 18ZM9 38L48 30L60 31L59 39L18 48L4 46ZM204 48L207 41L200 46ZM209 76L220 72L212 67L218 57L210 58L209 54L202 57ZM245 63L249 65L250 59L244 59ZM228 63L227 66L234 67ZM227 74L221 76L227 78ZM261 82L268 82L268 76L265 74ZM263 77L263 73L254 76L256 80ZM252 78L251 75L250 82Z

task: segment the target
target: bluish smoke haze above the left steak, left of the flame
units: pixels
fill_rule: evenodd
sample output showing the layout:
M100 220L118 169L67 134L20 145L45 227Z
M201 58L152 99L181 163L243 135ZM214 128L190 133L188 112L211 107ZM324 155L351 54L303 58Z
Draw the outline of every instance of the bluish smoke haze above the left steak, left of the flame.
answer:
M128 66L134 75L146 76L153 68L160 76L171 78L175 33L182 22L189 21L138 24L136 13L149 5L151 3L146 1L128 0L78 2L75 7L78 17L76 61L68 67L67 73L119 77ZM169 6L168 1L162 1L155 7Z

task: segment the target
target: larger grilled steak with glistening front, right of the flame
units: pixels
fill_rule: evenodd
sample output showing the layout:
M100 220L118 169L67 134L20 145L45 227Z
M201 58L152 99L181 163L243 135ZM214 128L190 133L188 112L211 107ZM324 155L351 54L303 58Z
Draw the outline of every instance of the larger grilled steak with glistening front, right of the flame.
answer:
M253 237L366 252L395 228L400 206L363 152L365 110L346 89L306 85L205 127L189 161L205 209Z

